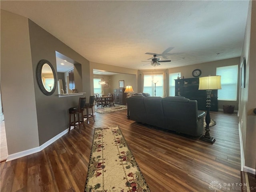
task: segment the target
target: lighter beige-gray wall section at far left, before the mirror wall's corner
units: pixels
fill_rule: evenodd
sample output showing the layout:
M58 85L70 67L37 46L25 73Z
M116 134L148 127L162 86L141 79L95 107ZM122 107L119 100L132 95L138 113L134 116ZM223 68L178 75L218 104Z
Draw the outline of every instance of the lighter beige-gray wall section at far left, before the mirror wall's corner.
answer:
M8 154L39 146L28 19L1 10L1 89Z

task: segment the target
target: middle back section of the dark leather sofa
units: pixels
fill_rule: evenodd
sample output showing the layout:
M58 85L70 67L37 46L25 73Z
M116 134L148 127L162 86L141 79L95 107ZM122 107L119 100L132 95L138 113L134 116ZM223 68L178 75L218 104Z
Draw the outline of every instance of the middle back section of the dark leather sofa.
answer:
M162 97L145 97L144 106L147 124L163 128L164 112L162 108Z

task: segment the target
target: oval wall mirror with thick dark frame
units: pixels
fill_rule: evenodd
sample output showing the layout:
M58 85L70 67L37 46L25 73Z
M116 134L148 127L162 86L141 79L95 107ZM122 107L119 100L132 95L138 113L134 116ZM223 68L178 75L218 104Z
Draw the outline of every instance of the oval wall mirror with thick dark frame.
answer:
M56 74L48 60L39 61L36 76L41 91L46 95L52 95L56 89Z

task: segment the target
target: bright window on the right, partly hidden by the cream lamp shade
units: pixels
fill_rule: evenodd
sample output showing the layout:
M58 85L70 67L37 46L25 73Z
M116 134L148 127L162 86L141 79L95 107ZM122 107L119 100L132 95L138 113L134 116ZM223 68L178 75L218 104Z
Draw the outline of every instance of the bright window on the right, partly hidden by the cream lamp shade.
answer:
M216 75L221 76L221 88L218 90L218 100L236 101L238 65L217 67Z

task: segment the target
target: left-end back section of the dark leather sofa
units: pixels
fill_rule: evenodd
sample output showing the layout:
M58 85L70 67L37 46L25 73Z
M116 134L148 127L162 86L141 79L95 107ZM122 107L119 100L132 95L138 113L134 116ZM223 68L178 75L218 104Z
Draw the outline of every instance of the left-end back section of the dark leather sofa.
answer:
M127 110L130 115L130 119L138 122L146 122L146 110L144 107L144 96L132 95L126 98Z

